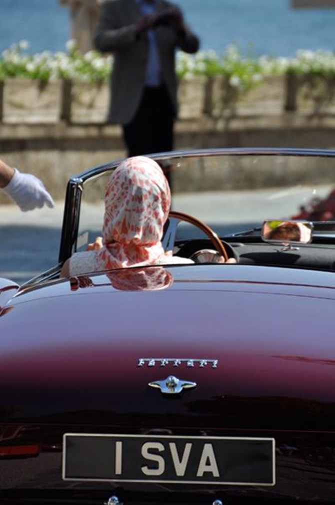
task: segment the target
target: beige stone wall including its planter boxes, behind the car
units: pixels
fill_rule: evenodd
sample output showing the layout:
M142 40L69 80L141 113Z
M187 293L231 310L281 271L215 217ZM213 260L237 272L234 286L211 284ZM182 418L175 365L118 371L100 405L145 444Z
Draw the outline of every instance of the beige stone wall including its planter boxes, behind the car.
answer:
M0 156L40 177L56 200L63 199L70 175L125 156L121 129L104 121L105 85L24 84L15 80L0 89ZM284 78L270 76L230 104L223 92L218 80L180 85L175 149L335 147L335 108L313 110L311 96L307 107L297 86L288 92ZM0 203L8 201L0 193Z

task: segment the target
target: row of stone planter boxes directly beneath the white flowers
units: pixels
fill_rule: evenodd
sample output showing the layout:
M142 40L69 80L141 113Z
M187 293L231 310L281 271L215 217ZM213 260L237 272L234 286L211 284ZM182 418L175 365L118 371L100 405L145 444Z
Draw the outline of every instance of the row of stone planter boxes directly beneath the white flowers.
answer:
M335 81L308 76L269 75L245 93L227 85L224 76L181 80L179 118L229 120L274 116L285 111L306 115L335 114ZM8 79L0 83L0 122L104 124L108 84L68 80L41 83Z

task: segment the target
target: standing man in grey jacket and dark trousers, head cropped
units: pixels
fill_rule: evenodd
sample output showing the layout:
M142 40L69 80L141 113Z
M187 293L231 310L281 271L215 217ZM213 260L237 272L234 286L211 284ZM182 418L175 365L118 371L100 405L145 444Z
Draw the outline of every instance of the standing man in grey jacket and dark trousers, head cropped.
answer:
M180 9L166 0L107 0L95 46L114 56L108 121L122 125L127 155L172 150L175 51L196 53L199 48Z

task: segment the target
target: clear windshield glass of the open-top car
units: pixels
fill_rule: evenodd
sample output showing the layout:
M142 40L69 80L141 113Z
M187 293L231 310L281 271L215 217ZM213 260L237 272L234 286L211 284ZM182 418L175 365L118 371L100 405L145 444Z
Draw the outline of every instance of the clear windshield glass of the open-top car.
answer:
M334 219L335 157L203 152L166 158L164 166L171 172L172 210L197 217L220 237L260 230L266 219ZM84 183L77 250L101 235L110 170ZM335 224L319 227L322 233L333 230ZM177 238L201 234L181 223Z

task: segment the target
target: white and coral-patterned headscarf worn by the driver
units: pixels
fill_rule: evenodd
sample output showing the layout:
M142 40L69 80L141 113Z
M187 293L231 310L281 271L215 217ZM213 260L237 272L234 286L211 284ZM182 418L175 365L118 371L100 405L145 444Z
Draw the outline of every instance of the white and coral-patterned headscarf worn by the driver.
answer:
M107 183L97 270L155 264L164 257L161 239L170 205L167 179L154 160L123 161Z

